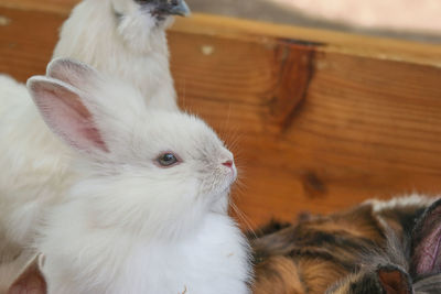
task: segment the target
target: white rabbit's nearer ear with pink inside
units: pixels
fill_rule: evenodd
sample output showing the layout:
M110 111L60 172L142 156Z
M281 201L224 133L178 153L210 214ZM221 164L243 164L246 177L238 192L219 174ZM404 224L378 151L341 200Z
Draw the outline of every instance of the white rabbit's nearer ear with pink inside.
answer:
M71 146L95 153L108 152L83 91L47 77L32 77L28 89L51 130Z

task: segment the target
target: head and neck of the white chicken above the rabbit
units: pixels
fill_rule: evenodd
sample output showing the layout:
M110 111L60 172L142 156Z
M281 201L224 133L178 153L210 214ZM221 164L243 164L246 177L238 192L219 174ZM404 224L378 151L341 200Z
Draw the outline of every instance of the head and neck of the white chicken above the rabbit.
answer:
M72 57L139 88L153 107L178 110L165 29L184 0L83 0L63 24L54 57Z

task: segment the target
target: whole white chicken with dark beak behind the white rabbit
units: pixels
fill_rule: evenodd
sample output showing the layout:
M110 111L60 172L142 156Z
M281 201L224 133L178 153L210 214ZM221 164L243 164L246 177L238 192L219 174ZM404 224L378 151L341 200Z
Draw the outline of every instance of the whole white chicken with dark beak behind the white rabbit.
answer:
M141 90L149 107L176 110L165 29L183 0L84 0L64 23L54 56L96 66ZM121 99L125 99L123 97ZM33 238L47 204L75 177L72 152L47 130L24 85L0 76L0 263Z

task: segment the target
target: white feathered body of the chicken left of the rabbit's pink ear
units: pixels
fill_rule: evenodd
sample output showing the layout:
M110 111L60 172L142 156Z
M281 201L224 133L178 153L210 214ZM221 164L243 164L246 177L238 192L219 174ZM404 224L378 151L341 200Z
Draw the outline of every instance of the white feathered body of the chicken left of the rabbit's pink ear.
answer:
M26 88L0 75L0 263L33 240L44 208L71 181L71 151L35 110Z

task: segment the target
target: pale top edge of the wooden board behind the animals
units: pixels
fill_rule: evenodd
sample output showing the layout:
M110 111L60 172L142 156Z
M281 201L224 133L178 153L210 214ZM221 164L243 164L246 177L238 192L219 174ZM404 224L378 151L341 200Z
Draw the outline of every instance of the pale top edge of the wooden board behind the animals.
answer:
M2 0L0 6L67 14L77 2L79 0ZM262 25L262 23L255 21L197 13L194 13L191 19L178 18L173 30L192 34L215 34L224 37L238 37L240 40L257 39L263 43L268 37L282 39L292 43L319 43L322 44L322 48L332 52L430 64L441 67L440 45L401 40L369 37L271 23Z

